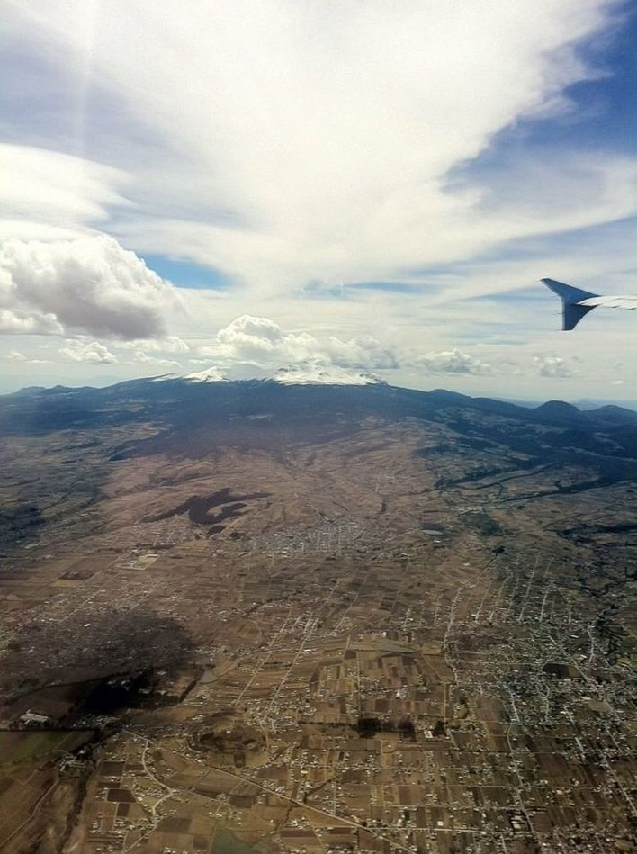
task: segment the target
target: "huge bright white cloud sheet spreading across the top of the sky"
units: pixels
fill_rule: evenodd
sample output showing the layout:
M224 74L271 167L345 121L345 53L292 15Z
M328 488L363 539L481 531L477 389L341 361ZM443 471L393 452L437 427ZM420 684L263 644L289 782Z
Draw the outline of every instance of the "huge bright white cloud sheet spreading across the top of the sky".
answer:
M65 161L71 199L68 182L41 166L56 210L74 223L116 211L109 230L139 251L286 292L310 278L396 277L633 212L635 162L610 153L525 153L499 176L470 170L449 182L499 131L565 108L565 88L597 73L574 46L614 9L611 0L449 0L444 10L345 0L336 12L193 0L184 14L163 0L157 15L149 0L113 0L108 13L84 0L32 0L10 3L6 17L10 38L65 63L54 71L78 82L76 142L87 137L118 166ZM99 93L114 140L91 134ZM142 129L152 148L139 143ZM41 205L40 220L58 222L37 181L27 180L25 202L20 181L12 187L18 213L34 218Z

